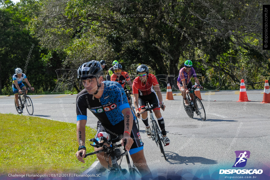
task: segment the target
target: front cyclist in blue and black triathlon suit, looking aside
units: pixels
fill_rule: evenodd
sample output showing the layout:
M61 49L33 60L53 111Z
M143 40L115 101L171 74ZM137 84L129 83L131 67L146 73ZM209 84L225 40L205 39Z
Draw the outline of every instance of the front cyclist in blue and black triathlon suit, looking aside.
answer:
M105 131L110 134L111 139L123 134L120 141L124 144L126 139L126 150L129 151L130 157L136 164L137 169L142 176L150 175L151 172L146 164L143 153L143 142L140 142L140 133L134 122L127 102L126 94L122 86L113 81L103 81L103 70L98 61L92 60L82 64L78 69L78 77L85 87L76 99L77 112L77 140L79 143L76 157L79 161L85 162L83 157L86 154L85 147L85 125L87 122L87 109L89 109L97 118L97 134ZM97 134L95 138L97 138ZM103 148L95 148L95 151ZM80 156L82 152L82 157ZM105 158L101 158L101 157ZM97 154L100 164L108 168L106 159L108 155L104 152ZM110 159L110 158L109 158ZM109 163L111 164L110 160ZM139 166L139 164L141 164Z

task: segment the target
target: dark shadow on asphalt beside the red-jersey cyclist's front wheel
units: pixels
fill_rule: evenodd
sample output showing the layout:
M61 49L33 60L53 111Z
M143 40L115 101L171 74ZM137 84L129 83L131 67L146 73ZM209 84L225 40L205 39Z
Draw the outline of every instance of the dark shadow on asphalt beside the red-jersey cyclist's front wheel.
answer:
M197 157L197 156L180 156L174 152L165 151L167 155L167 161L170 162L170 164L195 164L195 163L201 163L201 164L217 164L218 162L212 159L207 159L203 157Z

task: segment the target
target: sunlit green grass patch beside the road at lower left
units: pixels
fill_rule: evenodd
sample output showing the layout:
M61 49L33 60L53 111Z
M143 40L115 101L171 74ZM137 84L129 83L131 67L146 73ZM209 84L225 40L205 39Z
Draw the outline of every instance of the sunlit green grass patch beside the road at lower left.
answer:
M0 114L0 175L81 173L96 160L78 161L76 124L39 117ZM86 127L86 138L96 131ZM88 142L88 141L87 141ZM86 142L86 143L87 143ZM87 152L93 151L90 142Z

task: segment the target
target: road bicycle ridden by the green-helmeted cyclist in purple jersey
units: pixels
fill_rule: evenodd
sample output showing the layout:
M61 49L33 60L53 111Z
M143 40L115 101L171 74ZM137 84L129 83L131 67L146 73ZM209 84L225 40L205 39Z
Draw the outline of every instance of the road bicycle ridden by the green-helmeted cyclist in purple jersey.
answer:
M205 114L205 110L204 110L204 106L202 101L195 95L195 89L198 89L198 86L193 86L191 89L189 90L189 93L192 93L194 96L194 100L192 100L189 96L189 93L186 94L186 98L188 100L188 106L185 105L185 100L183 99L183 104L184 104L184 108L185 111L187 113L187 115L190 118L193 118L194 112L201 117L201 121L205 121L206 119L206 114Z

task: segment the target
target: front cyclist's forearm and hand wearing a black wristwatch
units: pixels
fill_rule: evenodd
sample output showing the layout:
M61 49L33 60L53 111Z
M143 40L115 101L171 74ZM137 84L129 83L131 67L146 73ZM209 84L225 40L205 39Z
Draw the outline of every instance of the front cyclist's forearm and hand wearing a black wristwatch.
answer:
M85 125L86 125L86 122L87 121L85 119L77 121L77 133L76 133L76 135L77 135L77 141L78 141L79 146L80 145L85 146ZM84 159L80 156L80 152L83 153L82 157L84 157L85 154L86 154L85 148L83 148L80 151L76 152L77 159L79 161L85 163Z

